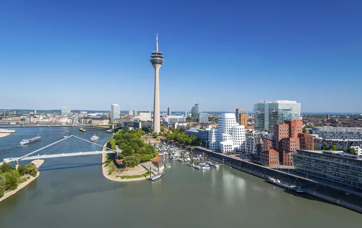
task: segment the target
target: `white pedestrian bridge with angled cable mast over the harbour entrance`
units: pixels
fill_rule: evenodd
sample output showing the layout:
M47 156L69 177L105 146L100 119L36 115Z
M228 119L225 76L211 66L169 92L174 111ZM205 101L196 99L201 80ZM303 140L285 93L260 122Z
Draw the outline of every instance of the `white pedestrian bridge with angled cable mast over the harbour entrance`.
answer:
M64 141L64 140L69 139L69 138L72 138L72 137L77 138L77 139L80 139L80 140L83 140L83 141L85 141L85 142L88 142L88 143L91 143L91 144L94 144L94 145L97 145L97 146L100 146L100 147L102 147L102 148L106 148L107 150L106 150L106 151L88 151L88 152L76 152L76 153L61 153L61 154L49 154L49 155L43 154L43 155L39 155L38 152L44 150L45 148L48 148L48 147L50 147L50 146L53 146L53 145L55 145L55 144L57 144L57 143L60 143L61 141ZM115 151L115 150L112 150L112 149L107 148L107 147L105 147L105 146L99 145L99 144L97 144L97 143L94 143L94 142L91 142L91 141L88 141L88 140L79 138L79 137L74 136L74 135L70 135L70 136L65 137L65 138L63 138L63 139L60 139L60 140L57 141L57 142L51 143L51 144L49 144L49 145L47 145L47 146L45 146L45 147L42 147L42 148L40 148L40 149L38 149L38 150L35 150L35 151L33 151L33 152L30 152L30 153L28 153L28 154L26 154L26 155L24 155L24 156L21 156L21 157L18 157L18 158L5 158L5 159L3 160L3 162L0 163L0 166L1 166L3 163L15 162L15 164L16 164L16 165L15 165L15 168L17 169L18 164L19 164L19 161L22 161L22 160L25 161L25 160L36 160L36 159L62 158L62 157L74 157L74 156L87 156L87 155L97 155L97 154L117 154L117 153L119 153L119 152L121 152L121 151L120 151L118 148L117 148L117 151ZM35 153L38 153L38 155L35 155L35 156L34 156L33 154L35 154Z

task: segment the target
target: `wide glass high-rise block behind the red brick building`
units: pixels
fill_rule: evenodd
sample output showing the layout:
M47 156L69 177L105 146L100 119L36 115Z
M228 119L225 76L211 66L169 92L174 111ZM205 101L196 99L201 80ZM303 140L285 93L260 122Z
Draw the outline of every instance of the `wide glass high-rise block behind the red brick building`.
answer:
M301 120L301 103L296 101L258 101L254 103L255 130L274 130L284 120Z

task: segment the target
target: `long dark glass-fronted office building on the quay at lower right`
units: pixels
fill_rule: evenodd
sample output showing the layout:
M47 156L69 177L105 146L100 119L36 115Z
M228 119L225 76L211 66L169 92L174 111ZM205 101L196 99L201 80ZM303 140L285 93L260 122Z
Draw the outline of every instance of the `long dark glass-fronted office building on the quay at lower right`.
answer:
M342 151L297 150L295 171L362 189L362 159Z

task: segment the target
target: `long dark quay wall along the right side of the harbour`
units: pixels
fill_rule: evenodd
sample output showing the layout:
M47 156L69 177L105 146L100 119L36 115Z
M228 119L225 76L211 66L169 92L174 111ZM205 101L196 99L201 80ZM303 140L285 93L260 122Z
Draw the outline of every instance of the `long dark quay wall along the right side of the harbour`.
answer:
M172 145L172 143L170 144ZM180 148L180 144L177 144L177 147ZM184 146L181 147L185 149ZM187 151L190 152L191 149L187 149ZM311 179L306 179L296 174L288 174L282 171L268 169L264 166L241 161L240 159L220 153L215 153L202 148L195 148L192 150L192 153L197 155L204 155L207 159L211 159L220 164L230 166L234 169L250 173L263 179L267 179L268 176L272 176L282 181L301 186L305 190L305 193L309 195L362 213L362 197L353 192L336 189L330 185L319 183Z

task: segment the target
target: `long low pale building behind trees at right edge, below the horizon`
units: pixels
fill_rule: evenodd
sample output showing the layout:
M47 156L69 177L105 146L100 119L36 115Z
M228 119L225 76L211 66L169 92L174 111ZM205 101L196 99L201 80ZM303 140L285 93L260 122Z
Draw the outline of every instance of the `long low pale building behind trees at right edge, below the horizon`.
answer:
M312 127L312 134L323 139L362 141L362 127Z

